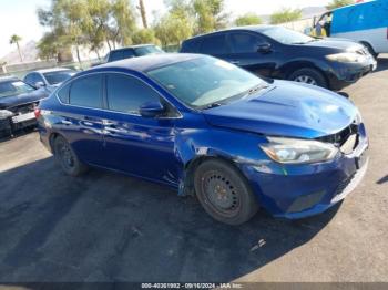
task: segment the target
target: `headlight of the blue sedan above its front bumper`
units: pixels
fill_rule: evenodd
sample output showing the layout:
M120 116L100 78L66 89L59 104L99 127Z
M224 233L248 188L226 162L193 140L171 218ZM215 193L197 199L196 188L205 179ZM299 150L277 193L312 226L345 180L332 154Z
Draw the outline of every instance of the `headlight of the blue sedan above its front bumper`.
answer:
M269 143L259 145L275 162L284 164L318 163L333 159L338 148L319 141L267 137Z

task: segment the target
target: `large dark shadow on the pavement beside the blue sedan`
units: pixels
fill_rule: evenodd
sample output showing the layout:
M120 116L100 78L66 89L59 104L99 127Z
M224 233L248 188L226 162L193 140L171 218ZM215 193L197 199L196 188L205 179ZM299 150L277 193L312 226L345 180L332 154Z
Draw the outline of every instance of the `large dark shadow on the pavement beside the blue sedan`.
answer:
M52 158L0 173L0 281L231 281L309 241L338 208L241 227L127 176L63 176Z

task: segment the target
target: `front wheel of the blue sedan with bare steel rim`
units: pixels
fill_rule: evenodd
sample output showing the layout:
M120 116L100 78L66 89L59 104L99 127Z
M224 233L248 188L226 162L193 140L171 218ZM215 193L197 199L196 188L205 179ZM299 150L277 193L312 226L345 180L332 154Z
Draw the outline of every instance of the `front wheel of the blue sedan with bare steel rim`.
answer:
M196 196L214 219L242 225L258 210L258 203L245 177L224 160L202 163L194 174Z

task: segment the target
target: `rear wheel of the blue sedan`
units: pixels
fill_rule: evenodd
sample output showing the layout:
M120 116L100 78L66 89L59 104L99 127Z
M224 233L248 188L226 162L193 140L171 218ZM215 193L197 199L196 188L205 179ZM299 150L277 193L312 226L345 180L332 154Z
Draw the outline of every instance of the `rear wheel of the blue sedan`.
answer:
M86 172L88 167L79 160L70 144L62 136L54 139L53 152L55 160L68 175L79 176Z

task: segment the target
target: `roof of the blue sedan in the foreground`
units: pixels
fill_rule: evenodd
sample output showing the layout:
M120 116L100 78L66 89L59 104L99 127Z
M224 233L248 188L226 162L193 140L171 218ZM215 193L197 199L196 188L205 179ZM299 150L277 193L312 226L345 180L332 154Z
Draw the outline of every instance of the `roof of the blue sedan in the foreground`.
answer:
M98 71L101 69L126 69L137 72L147 72L154 69L159 69L173 63L194 60L197 58L207 58L201 54L190 53L164 53L164 54L151 54L140 58L125 59L121 61L109 62L94 66L86 72Z

